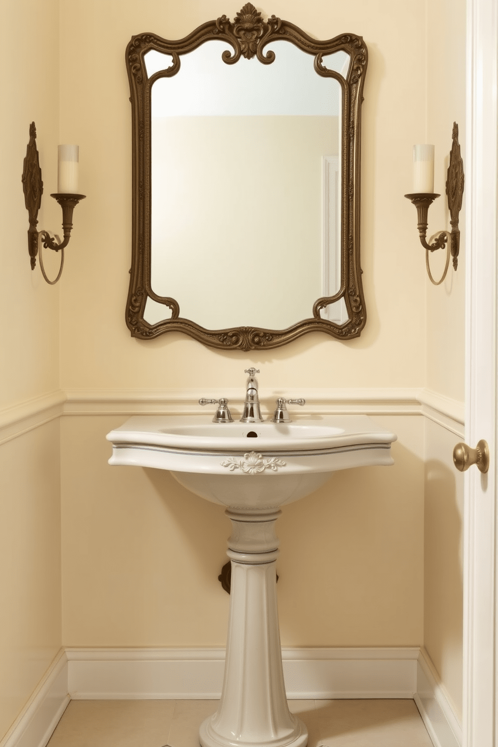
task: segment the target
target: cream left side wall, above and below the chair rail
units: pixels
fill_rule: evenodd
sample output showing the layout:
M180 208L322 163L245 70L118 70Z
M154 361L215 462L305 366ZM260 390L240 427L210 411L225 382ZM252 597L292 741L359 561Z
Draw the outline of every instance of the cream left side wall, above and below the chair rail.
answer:
M59 423L17 438L2 428L17 403L59 388L59 288L46 285L38 268L31 272L21 184L34 120L45 185L39 225L58 226L60 208L49 197L57 185L58 2L1 0L0 28L7 61L0 81L1 740L61 643Z

